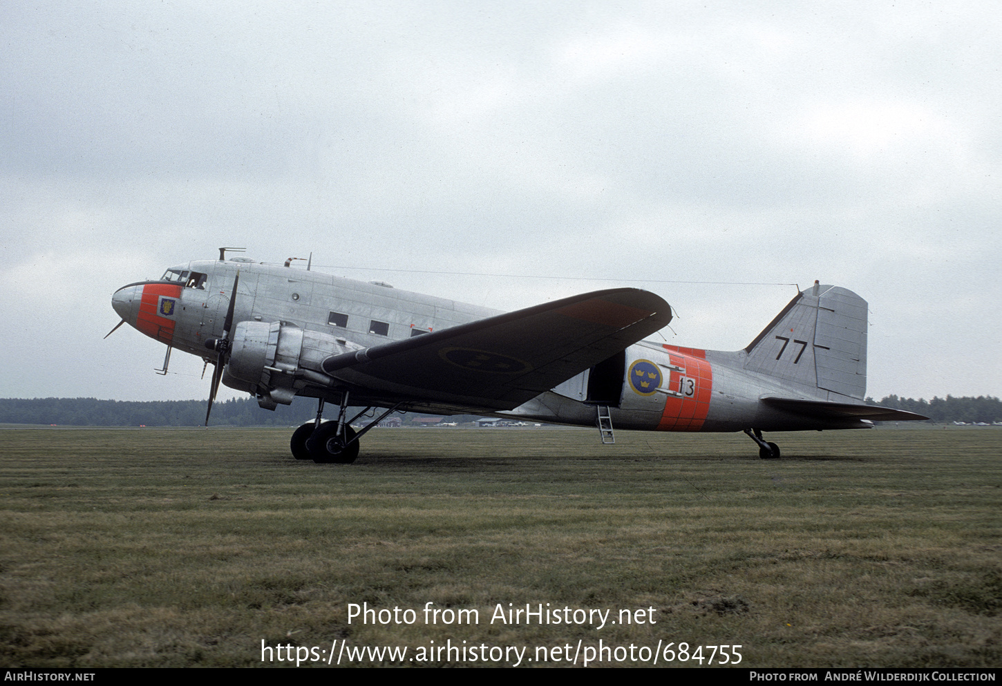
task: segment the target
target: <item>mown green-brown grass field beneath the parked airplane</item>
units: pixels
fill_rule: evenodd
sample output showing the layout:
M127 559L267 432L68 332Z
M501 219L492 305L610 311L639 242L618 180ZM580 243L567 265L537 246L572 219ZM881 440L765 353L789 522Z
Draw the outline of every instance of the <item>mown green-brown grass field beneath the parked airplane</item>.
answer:
M772 434L784 458L761 461L742 435L390 429L352 466L293 460L290 433L0 431L0 663L601 640L1002 665L1000 430ZM479 623L426 625L428 602ZM419 619L349 623L350 603ZM656 624L492 624L508 603Z

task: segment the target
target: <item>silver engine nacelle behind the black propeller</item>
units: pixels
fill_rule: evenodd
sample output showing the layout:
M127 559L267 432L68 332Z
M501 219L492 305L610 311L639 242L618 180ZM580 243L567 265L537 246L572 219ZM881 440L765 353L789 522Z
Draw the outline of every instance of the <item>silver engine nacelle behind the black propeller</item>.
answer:
M282 321L240 321L233 330L222 382L255 394L261 407L275 410L279 403L292 404L308 385L333 384L334 380L320 371L320 363L361 348L330 333Z

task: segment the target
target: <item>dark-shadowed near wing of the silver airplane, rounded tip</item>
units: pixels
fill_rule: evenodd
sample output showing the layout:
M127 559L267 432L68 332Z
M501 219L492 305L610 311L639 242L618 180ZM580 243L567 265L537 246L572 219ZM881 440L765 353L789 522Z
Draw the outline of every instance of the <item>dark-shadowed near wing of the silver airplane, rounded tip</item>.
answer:
M511 410L671 320L661 297L596 290L330 357L324 373L399 400Z

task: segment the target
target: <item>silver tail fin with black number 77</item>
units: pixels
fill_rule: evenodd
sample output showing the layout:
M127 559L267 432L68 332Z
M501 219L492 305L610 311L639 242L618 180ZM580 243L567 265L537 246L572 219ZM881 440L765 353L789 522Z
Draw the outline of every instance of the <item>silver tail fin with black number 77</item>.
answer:
M800 386L863 400L867 392L867 301L852 290L803 290L744 349L744 369Z

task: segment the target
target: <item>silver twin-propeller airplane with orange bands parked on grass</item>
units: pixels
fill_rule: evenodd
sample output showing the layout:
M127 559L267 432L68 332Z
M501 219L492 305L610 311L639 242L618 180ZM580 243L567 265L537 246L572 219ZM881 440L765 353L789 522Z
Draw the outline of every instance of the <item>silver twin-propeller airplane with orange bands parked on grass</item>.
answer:
M292 436L297 460L350 464L359 439L398 411L597 427L602 443L615 442L613 425L743 432L763 459L780 457L763 432L928 419L864 402L867 302L839 286L815 281L746 348L718 352L644 340L672 313L638 288L501 312L321 273L312 260L226 257L241 250L118 288L122 320L108 335L128 323L165 344L160 374L172 350L213 365L205 426L220 382L267 410L317 399L316 419ZM328 403L336 420L323 419Z

